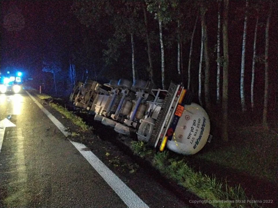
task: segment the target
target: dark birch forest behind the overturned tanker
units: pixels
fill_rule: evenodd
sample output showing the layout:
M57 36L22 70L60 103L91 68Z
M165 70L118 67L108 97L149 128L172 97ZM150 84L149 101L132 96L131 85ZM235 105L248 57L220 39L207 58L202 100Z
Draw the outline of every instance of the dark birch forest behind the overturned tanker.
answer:
M45 10L47 6L51 9ZM34 29L39 30L34 36L40 41L31 56L26 55L28 50L16 54L32 57L29 70L36 71L40 82L53 92L54 77L58 94L69 93L77 80L87 78L100 82L144 79L165 89L175 81L188 86L195 102L208 112L218 112L224 107L223 81L228 78L230 110L253 109L262 116L266 106L268 115L277 112L277 1L84 0L36 2L29 7L40 13L36 21L32 18L37 24ZM228 77L223 78L224 38L229 61Z

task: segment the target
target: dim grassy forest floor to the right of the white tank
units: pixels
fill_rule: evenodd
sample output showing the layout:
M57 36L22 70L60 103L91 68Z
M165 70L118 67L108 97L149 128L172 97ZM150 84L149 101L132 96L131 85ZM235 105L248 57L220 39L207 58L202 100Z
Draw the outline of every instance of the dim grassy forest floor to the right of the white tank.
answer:
M278 134L256 126L231 131L228 144L215 141L214 148L204 149L194 157L277 183Z

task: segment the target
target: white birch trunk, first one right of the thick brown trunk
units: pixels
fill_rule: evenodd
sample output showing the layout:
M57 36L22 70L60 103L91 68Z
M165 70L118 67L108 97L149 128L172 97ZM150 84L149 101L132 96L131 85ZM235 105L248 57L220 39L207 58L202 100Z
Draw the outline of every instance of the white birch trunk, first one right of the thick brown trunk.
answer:
M246 45L246 34L247 34L247 9L248 0L246 0L246 11L244 18L244 29L243 29L243 39L242 39L242 56L241 56L241 74L240 74L240 99L242 111L246 111L245 107L245 95L244 95L244 69L245 69L245 45Z

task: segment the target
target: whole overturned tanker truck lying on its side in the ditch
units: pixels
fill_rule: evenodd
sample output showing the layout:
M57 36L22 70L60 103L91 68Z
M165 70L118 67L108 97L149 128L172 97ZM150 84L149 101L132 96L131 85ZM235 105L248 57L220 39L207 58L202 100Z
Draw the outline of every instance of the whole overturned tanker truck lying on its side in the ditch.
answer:
M192 94L181 84L168 90L153 89L149 81L126 79L77 83L70 96L74 106L94 114L94 120L118 133L137 135L159 151L193 155L211 140L205 110L192 103Z

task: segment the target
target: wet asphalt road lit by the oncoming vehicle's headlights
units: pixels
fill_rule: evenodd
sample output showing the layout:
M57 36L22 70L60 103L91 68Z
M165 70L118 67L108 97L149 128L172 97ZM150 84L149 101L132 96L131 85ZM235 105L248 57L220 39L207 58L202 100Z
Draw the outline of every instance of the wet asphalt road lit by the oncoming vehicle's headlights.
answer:
M81 153L28 94L0 94L0 207L189 207L149 177L141 184L134 177L136 199L122 197L126 188L114 191L84 158L91 151Z

